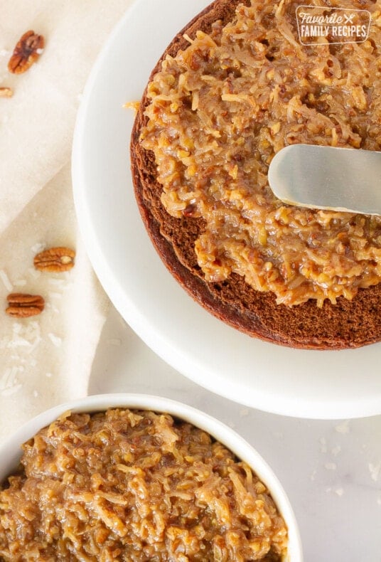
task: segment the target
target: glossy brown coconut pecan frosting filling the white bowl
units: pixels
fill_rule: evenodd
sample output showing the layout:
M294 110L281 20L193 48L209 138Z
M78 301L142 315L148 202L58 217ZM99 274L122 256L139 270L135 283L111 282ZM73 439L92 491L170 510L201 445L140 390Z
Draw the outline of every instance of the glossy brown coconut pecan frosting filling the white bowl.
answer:
M23 445L21 463L0 492L1 560L284 560L264 484L170 415L67 413Z

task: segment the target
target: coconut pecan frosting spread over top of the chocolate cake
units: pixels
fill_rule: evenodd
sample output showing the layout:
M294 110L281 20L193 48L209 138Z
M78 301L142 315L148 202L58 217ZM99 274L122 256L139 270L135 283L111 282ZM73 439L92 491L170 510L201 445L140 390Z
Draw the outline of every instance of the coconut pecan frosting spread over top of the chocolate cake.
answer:
M336 304L381 280L380 218L289 206L267 181L274 154L289 144L380 150L381 6L316 5L370 11L367 40L304 46L299 4L240 5L235 21L215 22L166 56L149 84L141 135L168 213L205 219L195 243L205 280L235 272L289 306Z

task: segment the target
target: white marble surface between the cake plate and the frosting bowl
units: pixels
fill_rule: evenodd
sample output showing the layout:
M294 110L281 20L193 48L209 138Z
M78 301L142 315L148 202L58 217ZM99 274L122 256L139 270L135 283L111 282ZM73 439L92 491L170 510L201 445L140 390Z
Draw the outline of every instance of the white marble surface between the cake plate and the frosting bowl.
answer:
M112 309L90 394L141 392L210 413L269 462L299 521L306 562L381 562L381 416L301 420L220 398L166 365Z

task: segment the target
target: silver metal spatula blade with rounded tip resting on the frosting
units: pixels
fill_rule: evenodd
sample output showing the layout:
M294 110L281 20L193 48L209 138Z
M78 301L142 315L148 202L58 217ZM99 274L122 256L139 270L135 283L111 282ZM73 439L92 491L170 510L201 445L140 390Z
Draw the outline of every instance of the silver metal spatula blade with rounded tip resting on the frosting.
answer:
M291 205L381 215L381 152L292 144L274 156L268 178Z

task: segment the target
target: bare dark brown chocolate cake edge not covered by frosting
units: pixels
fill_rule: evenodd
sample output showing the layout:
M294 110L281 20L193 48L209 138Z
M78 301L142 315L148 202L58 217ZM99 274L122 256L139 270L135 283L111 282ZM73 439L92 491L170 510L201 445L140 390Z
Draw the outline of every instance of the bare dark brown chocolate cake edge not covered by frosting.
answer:
M152 72L169 53L188 46L183 33L193 37L198 29L208 33L213 21L227 23L240 0L216 0L196 16L173 39ZM340 297L333 305L327 300L322 308L310 300L296 307L276 304L269 292L249 287L239 275L232 274L222 283L208 283L198 267L194 242L203 230L203 220L173 218L161 204L161 185L156 181L154 154L139 143L144 110L148 105L144 92L134 122L131 141L132 177L136 201L156 250L168 270L188 293L209 312L250 336L284 346L304 349L346 349L372 344L381 339L381 285L361 289L349 301Z

